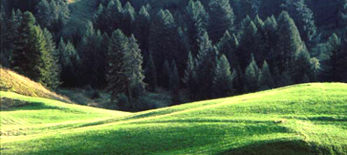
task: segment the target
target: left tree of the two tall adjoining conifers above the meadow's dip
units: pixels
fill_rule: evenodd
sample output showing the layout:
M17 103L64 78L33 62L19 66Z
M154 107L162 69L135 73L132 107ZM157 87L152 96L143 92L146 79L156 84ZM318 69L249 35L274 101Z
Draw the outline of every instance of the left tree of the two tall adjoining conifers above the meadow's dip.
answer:
M113 32L108 50L108 90L114 101L121 93L127 92L127 77L124 74L123 55L128 51L128 38L120 29Z

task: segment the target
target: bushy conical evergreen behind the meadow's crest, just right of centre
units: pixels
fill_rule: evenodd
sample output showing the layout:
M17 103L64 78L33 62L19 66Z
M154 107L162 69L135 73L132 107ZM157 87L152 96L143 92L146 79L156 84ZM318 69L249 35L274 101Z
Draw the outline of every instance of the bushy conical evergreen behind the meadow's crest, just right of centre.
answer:
M213 92L215 98L229 97L234 93L233 80L236 74L230 70L229 62L225 55L222 55L216 62Z

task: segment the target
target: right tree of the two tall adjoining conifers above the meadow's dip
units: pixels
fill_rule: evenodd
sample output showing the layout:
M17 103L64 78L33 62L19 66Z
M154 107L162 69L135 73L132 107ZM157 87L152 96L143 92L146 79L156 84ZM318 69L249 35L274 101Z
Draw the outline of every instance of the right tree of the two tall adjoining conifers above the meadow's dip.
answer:
M137 40L133 35L129 38L127 51L123 53L122 63L127 83L127 95L132 105L132 109L136 108L133 98L139 98L144 91L143 70L142 70L142 55L141 49L137 44Z

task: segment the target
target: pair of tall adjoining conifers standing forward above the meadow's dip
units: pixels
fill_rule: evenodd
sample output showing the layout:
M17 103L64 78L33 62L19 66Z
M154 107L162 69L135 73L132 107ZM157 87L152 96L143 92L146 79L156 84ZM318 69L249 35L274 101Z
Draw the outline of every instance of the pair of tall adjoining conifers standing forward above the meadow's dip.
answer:
M140 98L144 90L142 55L134 36L128 39L120 29L113 32L108 51L108 90L114 100L121 93L129 98L135 109L134 98ZM123 109L122 107L120 107Z

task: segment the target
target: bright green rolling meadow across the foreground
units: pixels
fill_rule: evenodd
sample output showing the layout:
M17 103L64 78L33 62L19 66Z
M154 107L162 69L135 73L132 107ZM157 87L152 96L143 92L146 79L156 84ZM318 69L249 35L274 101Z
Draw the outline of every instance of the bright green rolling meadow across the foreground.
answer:
M346 84L297 85L133 114L2 96L41 103L1 112L2 132L17 132L1 136L5 154L347 154Z

